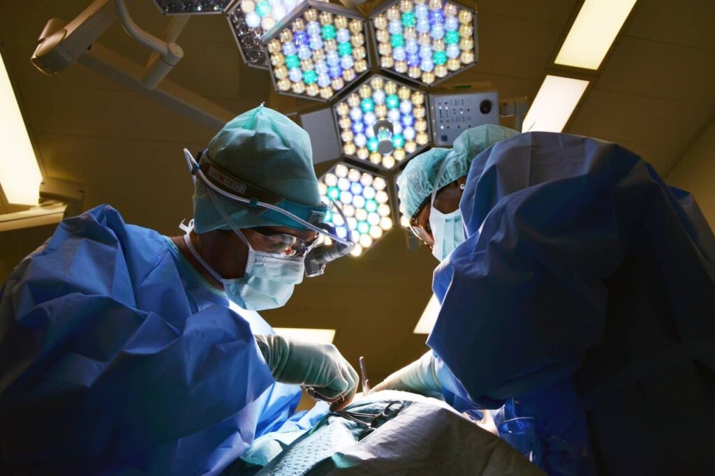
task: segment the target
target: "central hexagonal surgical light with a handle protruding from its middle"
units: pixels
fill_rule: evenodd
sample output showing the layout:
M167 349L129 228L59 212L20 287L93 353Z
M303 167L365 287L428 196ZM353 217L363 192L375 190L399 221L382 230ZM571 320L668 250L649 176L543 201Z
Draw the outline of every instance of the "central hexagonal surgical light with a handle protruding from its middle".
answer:
M385 76L366 80L333 106L342 153L393 169L429 146L425 93Z

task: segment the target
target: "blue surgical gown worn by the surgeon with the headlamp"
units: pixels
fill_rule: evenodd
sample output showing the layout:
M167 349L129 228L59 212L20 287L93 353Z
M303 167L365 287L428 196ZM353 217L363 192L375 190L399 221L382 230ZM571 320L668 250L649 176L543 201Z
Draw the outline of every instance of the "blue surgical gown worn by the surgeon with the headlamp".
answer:
M112 207L64 220L0 291L0 467L217 474L254 437L309 427L252 337L270 326L228 306Z

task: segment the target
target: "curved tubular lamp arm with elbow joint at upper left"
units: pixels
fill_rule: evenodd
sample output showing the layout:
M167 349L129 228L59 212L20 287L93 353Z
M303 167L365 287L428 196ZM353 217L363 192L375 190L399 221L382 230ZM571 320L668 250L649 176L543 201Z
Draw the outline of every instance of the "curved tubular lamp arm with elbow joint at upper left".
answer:
M152 49L152 51L156 53L152 54L152 57L149 59L149 64L147 64L147 69L144 71L144 75L141 79L142 86L147 89L154 89L184 57L184 50L181 46L174 43L174 40L177 39L179 33L184 29L188 17L177 17L173 19L167 29L166 40L162 40L150 34L148 31L144 31L134 22L124 0L114 0L114 8L117 10L119 21L121 21L122 26L124 26L124 31L127 31L129 36L132 36L132 38L139 41L140 44L147 46L147 48Z

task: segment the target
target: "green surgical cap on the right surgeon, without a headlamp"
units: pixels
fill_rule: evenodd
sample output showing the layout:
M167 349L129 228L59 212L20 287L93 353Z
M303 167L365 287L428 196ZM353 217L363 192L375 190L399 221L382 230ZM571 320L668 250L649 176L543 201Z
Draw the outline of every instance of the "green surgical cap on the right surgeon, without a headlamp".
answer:
M412 217L420 205L432 194L469 172L472 160L495 142L518 134L508 127L486 124L467 129L455 139L453 149L430 149L412 159L398 180L400 211ZM440 182L437 174L443 161L447 161Z

